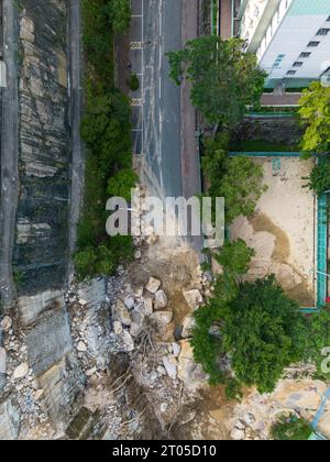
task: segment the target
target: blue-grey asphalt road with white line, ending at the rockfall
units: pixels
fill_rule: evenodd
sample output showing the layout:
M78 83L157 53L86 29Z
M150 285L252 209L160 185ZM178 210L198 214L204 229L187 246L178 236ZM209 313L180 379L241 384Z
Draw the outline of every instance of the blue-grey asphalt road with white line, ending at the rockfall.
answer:
M164 196L182 196L180 89L166 53L182 48L182 0L144 0L144 155Z

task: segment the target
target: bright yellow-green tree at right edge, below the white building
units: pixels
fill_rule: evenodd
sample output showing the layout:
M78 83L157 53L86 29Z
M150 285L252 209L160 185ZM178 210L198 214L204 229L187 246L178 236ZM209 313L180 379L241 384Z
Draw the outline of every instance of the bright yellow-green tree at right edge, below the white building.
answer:
M301 147L306 152L324 153L330 150L330 87L312 82L304 90L299 114L306 131Z

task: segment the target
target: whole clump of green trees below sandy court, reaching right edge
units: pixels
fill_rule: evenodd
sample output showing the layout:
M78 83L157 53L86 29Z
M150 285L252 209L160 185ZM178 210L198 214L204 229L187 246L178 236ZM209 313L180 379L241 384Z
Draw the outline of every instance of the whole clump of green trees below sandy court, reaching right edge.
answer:
M226 384L230 398L240 398L243 386L271 393L284 370L298 362L315 363L317 376L329 380L322 365L329 355L323 349L330 344L330 311L305 317L275 276L243 282L254 251L241 240L226 242L213 256L223 274L212 298L195 314L191 340L210 384Z

